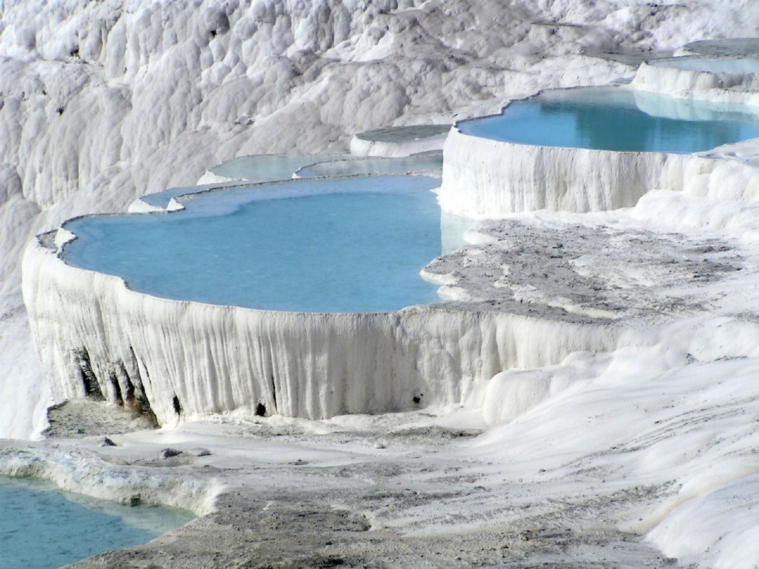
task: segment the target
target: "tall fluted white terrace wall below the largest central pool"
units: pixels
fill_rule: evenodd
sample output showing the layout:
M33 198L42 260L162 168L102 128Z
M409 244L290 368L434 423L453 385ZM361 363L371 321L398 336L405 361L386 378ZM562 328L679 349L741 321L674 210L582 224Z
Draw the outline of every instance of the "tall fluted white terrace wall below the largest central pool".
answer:
M24 256L24 301L56 401L86 395L94 376L109 401L144 393L162 424L259 402L308 418L408 409L415 396L479 407L503 369L638 342L603 322L445 307L309 314L165 300L68 266L39 239Z

